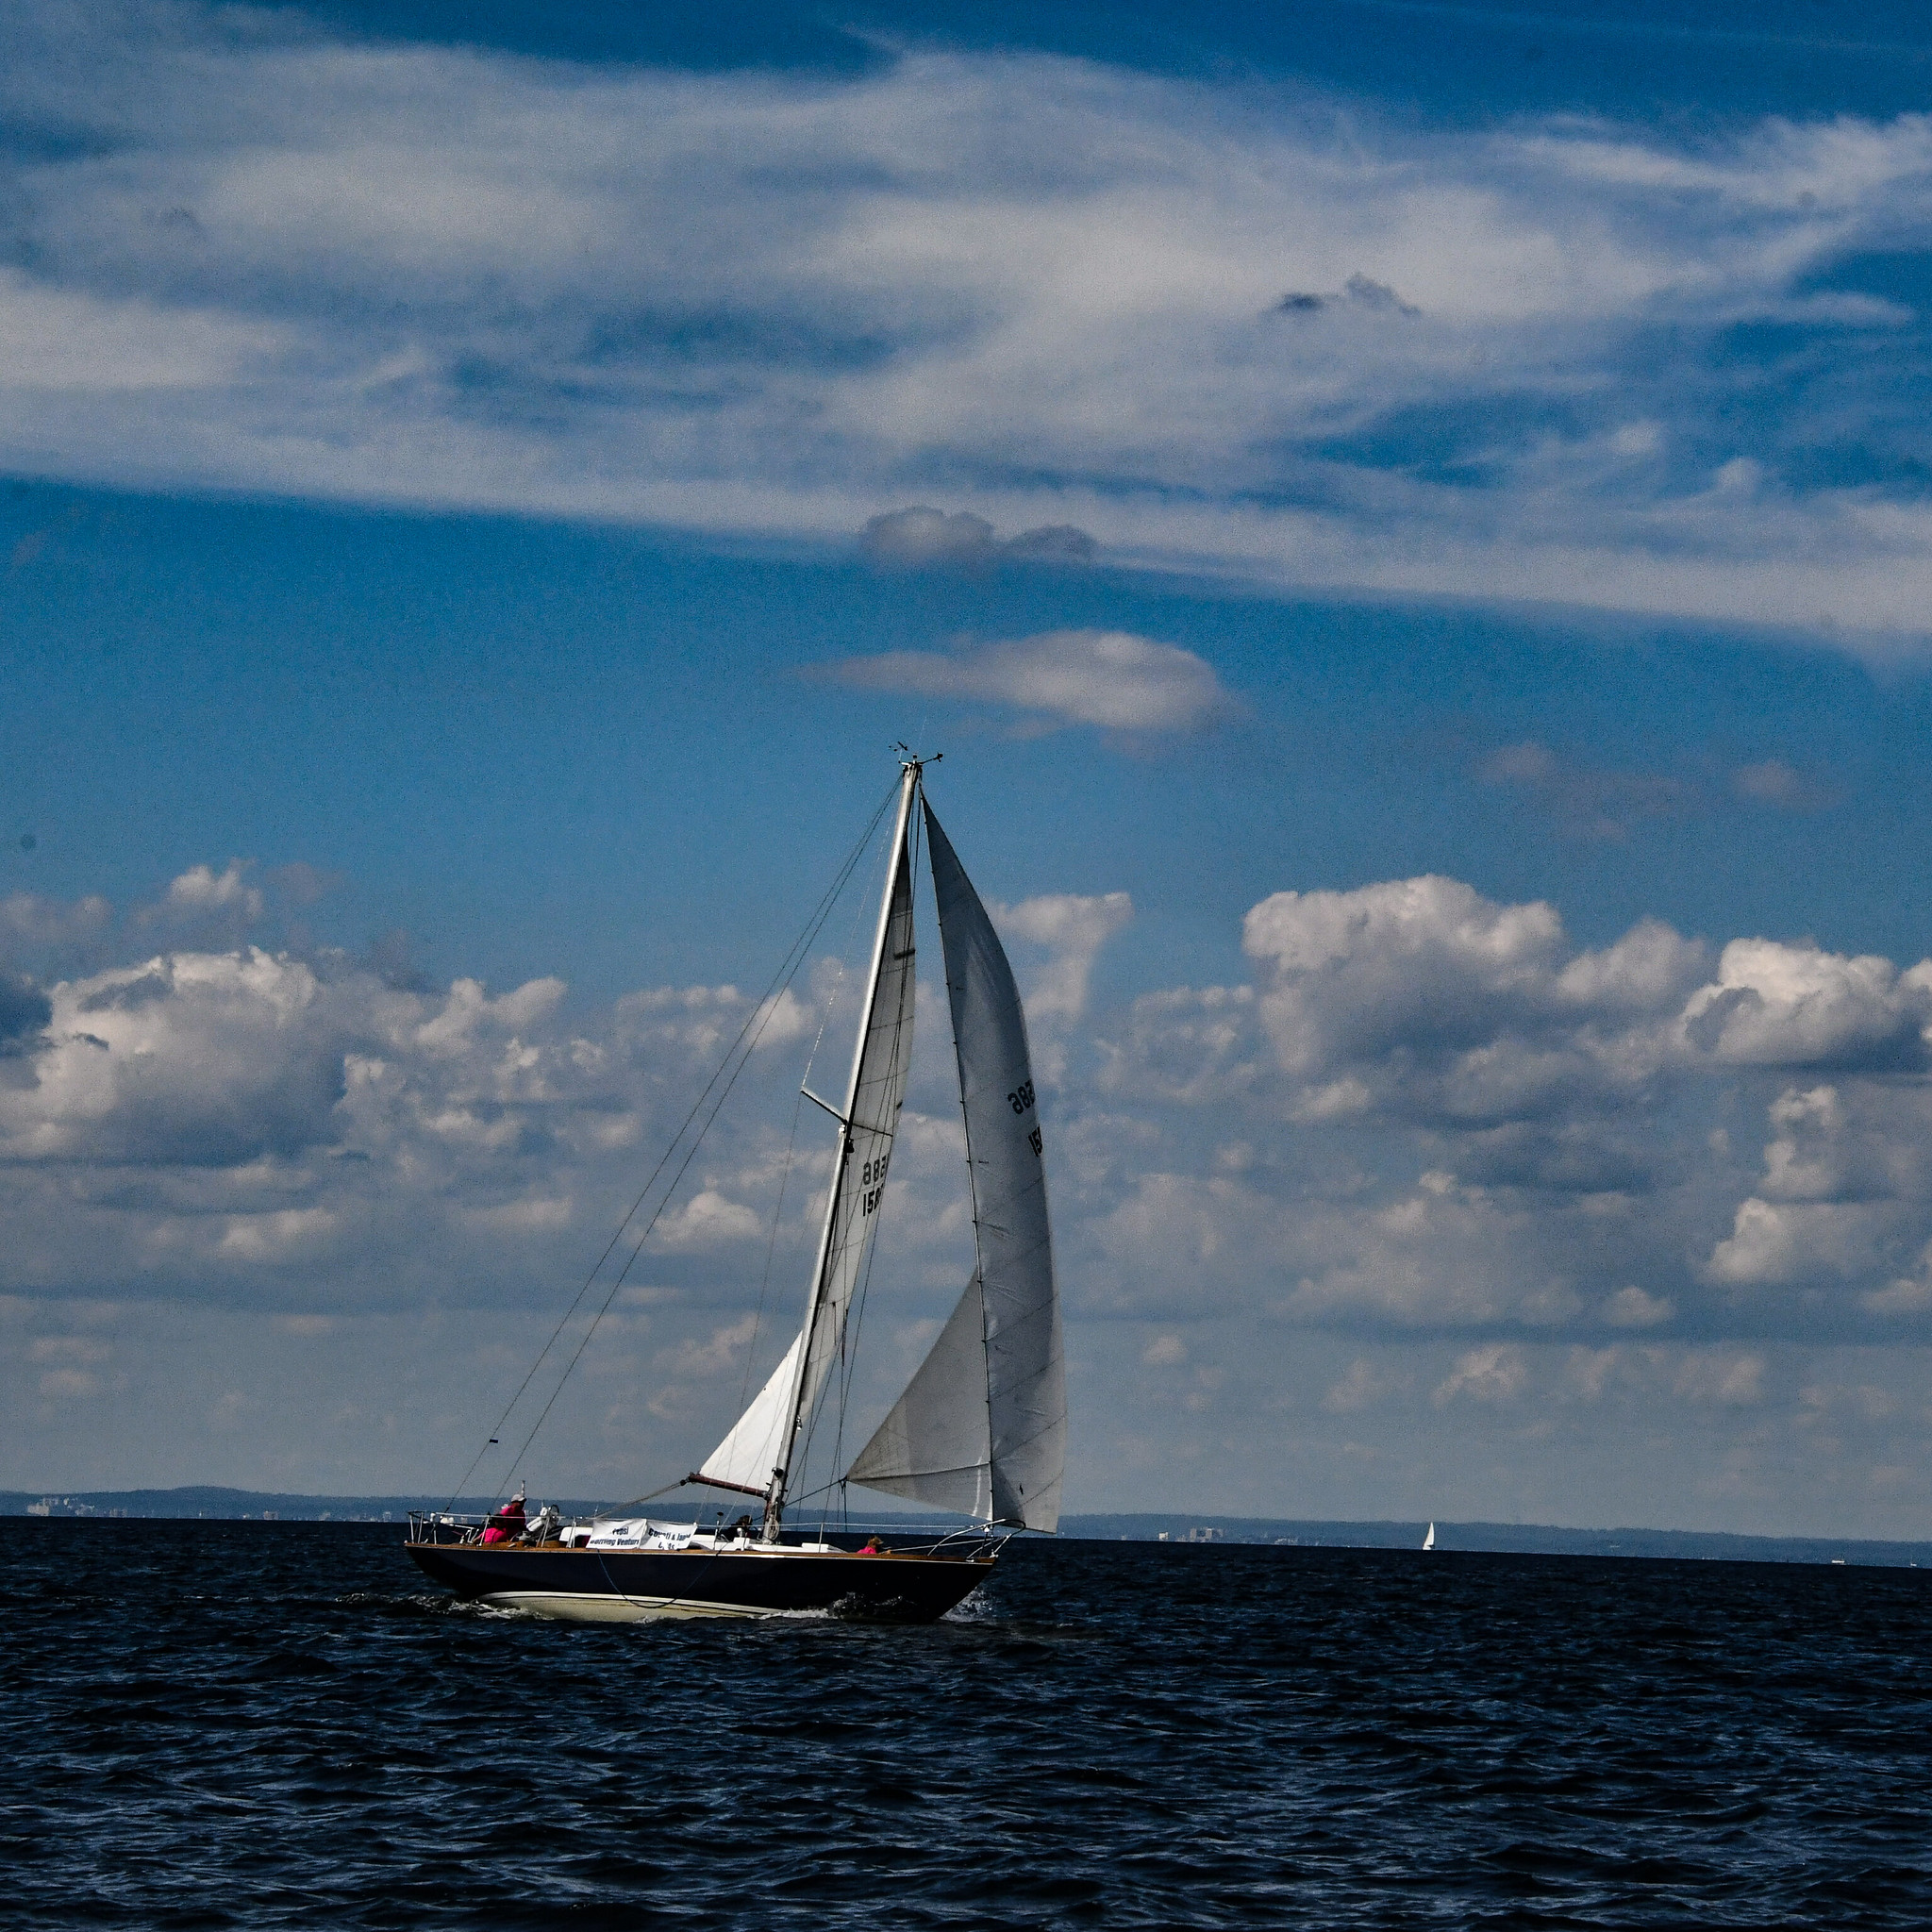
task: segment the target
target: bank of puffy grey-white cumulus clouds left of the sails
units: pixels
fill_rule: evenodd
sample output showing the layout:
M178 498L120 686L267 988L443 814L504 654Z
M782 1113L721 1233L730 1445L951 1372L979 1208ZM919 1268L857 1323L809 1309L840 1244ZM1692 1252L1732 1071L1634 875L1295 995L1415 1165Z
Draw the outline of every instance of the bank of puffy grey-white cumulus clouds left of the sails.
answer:
M211 867L187 877L189 896L236 895ZM794 1049L808 1026L792 995L757 1012L732 987L663 987L570 1028L562 993L396 985L261 945L29 987L0 1080L4 1277L305 1312L553 1291L558 1258L580 1265L634 1198L639 1144L672 1130L746 1022ZM771 1238L782 1163L761 1132L723 1134L663 1215L651 1252L676 1279L742 1273L734 1256Z

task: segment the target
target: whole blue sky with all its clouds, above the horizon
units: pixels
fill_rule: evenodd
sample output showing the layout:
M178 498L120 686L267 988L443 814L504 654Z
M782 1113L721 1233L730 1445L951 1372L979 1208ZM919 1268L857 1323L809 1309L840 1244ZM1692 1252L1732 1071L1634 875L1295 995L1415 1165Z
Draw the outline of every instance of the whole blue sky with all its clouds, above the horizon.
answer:
M0 1486L454 1488L763 1010L520 1464L690 1468L906 740L1068 1509L1924 1536L1922 10L674 12L4 6Z

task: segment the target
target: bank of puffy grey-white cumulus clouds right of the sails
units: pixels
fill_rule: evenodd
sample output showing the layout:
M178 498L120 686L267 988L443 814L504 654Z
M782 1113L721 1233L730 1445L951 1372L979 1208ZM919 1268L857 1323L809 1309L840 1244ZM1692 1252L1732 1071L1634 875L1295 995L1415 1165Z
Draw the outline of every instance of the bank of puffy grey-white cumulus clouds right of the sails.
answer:
M1932 966L1714 956L1656 920L1577 947L1553 906L1441 877L1277 893L1244 945L1252 985L1099 1020L1111 1119L1200 1119L1192 1173L1173 1142L1136 1151L1163 1171L1122 1169L1090 1225L1113 1306L1250 1279L1308 1325L1799 1333L1917 1308ZM1712 1122L1739 1103L1762 1109L1754 1177L1748 1126Z

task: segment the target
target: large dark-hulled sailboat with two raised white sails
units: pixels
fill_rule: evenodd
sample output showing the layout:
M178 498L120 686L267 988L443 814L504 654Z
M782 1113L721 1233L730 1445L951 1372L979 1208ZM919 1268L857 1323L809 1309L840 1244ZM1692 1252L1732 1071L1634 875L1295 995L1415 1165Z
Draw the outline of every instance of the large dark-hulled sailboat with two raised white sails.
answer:
M450 1513L412 1519L408 1551L460 1598L549 1617L765 1617L835 1611L929 1621L993 1569L1005 1536L1059 1526L1066 1463L1061 1310L1039 1107L1020 993L980 895L902 761L871 968L840 1105L804 1320L771 1378L684 1484L752 1497L730 1528L651 1517L564 1524L554 1513L483 1542ZM966 1122L976 1265L920 1370L844 1470L862 1488L964 1524L860 1542L786 1526L811 1422L844 1379L854 1293L887 1196L912 1061L914 856L923 827ZM500 1522L502 1519L493 1519Z

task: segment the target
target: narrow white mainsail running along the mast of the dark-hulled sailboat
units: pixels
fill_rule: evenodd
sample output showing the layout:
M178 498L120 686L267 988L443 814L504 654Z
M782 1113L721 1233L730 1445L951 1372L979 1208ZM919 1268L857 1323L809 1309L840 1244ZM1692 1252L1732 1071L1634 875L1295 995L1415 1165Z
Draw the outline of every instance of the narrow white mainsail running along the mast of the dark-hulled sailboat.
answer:
M767 1492L773 1476L790 1466L800 1420L811 1414L825 1378L844 1352L846 1312L866 1265L867 1242L879 1225L885 1173L893 1161L893 1136L898 1132L898 1103L912 1061L912 862L906 850L906 804L896 819L891 875L873 947L871 997L852 1057L852 1084L833 1159L833 1190L806 1327L792 1337L792 1347L771 1379L697 1470L728 1488Z

